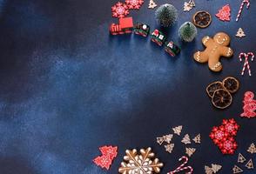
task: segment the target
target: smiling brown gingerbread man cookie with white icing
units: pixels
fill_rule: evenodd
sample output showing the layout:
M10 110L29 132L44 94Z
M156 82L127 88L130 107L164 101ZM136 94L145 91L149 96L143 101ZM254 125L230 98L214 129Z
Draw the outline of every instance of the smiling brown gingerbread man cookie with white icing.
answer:
M230 37L224 33L217 33L213 39L204 37L202 43L206 49L198 51L194 54L194 59L199 63L208 62L209 69L215 72L222 70L222 65L219 62L220 57L232 57L233 51L227 47L230 43Z

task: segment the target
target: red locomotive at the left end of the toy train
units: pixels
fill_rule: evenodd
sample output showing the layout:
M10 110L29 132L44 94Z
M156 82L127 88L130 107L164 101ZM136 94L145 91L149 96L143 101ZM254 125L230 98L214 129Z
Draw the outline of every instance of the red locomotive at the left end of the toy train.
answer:
M111 23L111 35L129 34L133 30L132 17L119 18L119 24Z

